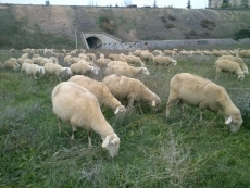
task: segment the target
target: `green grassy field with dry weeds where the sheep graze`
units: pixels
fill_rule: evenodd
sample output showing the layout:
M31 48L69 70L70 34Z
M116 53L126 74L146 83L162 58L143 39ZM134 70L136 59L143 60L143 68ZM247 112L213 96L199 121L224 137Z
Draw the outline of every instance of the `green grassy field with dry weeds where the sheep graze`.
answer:
M13 54L18 57L20 53ZM10 57L0 52L0 61ZM93 148L87 133L78 128L71 140L71 127L58 133L52 113L51 91L58 84L39 77L28 79L20 72L0 70L0 187L85 187L85 188L247 188L250 185L249 75L242 82L224 75L218 85L227 90L242 113L243 124L230 134L224 118L210 111L199 122L199 110L177 104L165 117L170 79L189 72L214 82L214 57L177 58L170 72L148 64L151 75L140 76L159 95L162 105L152 111L142 104L124 118L104 109L103 114L121 139L120 153L110 159L93 134ZM245 59L250 67L250 60Z

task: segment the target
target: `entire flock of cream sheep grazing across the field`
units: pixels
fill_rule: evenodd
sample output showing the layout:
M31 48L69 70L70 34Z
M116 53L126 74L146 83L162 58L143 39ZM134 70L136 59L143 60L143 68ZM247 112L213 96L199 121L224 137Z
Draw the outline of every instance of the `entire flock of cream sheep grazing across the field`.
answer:
M13 53L11 50L10 53ZM91 147L91 130L102 138L102 147L110 156L118 153L120 138L102 113L102 106L114 111L114 114L124 114L129 111L135 101L148 102L152 108L161 104L160 97L151 91L138 74L150 75L147 64L164 66L177 65L176 55L215 55L218 57L214 67L215 79L222 72L238 75L242 80L249 74L242 58L250 58L250 50L213 50L213 51L177 51L174 50L135 50L126 54L86 53L85 50L55 52L53 49L24 49L23 54L15 59L10 58L1 67L26 72L30 78L39 74L54 76L59 84L53 88L51 100L53 113L61 122L72 125L72 139L77 127L88 130L88 146ZM32 57L32 58L29 58ZM62 59L63 62L59 60ZM62 65L64 64L64 65ZM95 79L93 75L102 74L102 80ZM62 82L62 77L67 79ZM124 99L127 102L122 103ZM200 121L205 109L224 116L225 124L232 133L237 133L242 124L239 109L232 102L226 90L215 83L190 73L179 73L170 82L170 95L166 103L166 113L173 103L178 102L179 111L183 103L200 109Z

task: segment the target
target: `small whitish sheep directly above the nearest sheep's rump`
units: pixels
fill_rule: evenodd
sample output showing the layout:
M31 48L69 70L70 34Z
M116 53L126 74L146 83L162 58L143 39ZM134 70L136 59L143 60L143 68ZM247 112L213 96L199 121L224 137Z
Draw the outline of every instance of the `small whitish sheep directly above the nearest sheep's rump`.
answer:
M45 72L46 75L50 75L50 76L57 76L59 82L61 82L61 76L63 74L65 74L66 76L71 76L71 68L70 67L62 67L59 64L53 64L53 63L46 63L45 64Z

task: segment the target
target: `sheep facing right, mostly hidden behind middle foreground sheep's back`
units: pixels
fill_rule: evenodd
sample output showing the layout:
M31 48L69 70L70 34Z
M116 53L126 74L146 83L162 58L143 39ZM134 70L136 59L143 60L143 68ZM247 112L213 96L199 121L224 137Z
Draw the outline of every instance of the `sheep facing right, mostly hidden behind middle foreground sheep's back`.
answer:
M135 77L138 74L150 75L147 67L134 67L134 66L108 66L104 71L104 75L120 74L127 77Z

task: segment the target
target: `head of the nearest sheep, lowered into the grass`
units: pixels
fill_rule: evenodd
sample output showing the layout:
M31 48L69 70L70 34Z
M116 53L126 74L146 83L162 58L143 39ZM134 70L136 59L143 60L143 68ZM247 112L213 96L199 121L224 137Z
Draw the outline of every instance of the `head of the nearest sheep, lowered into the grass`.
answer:
M111 158L114 158L118 154L120 138L116 134L109 135L105 137L101 146L108 150Z

